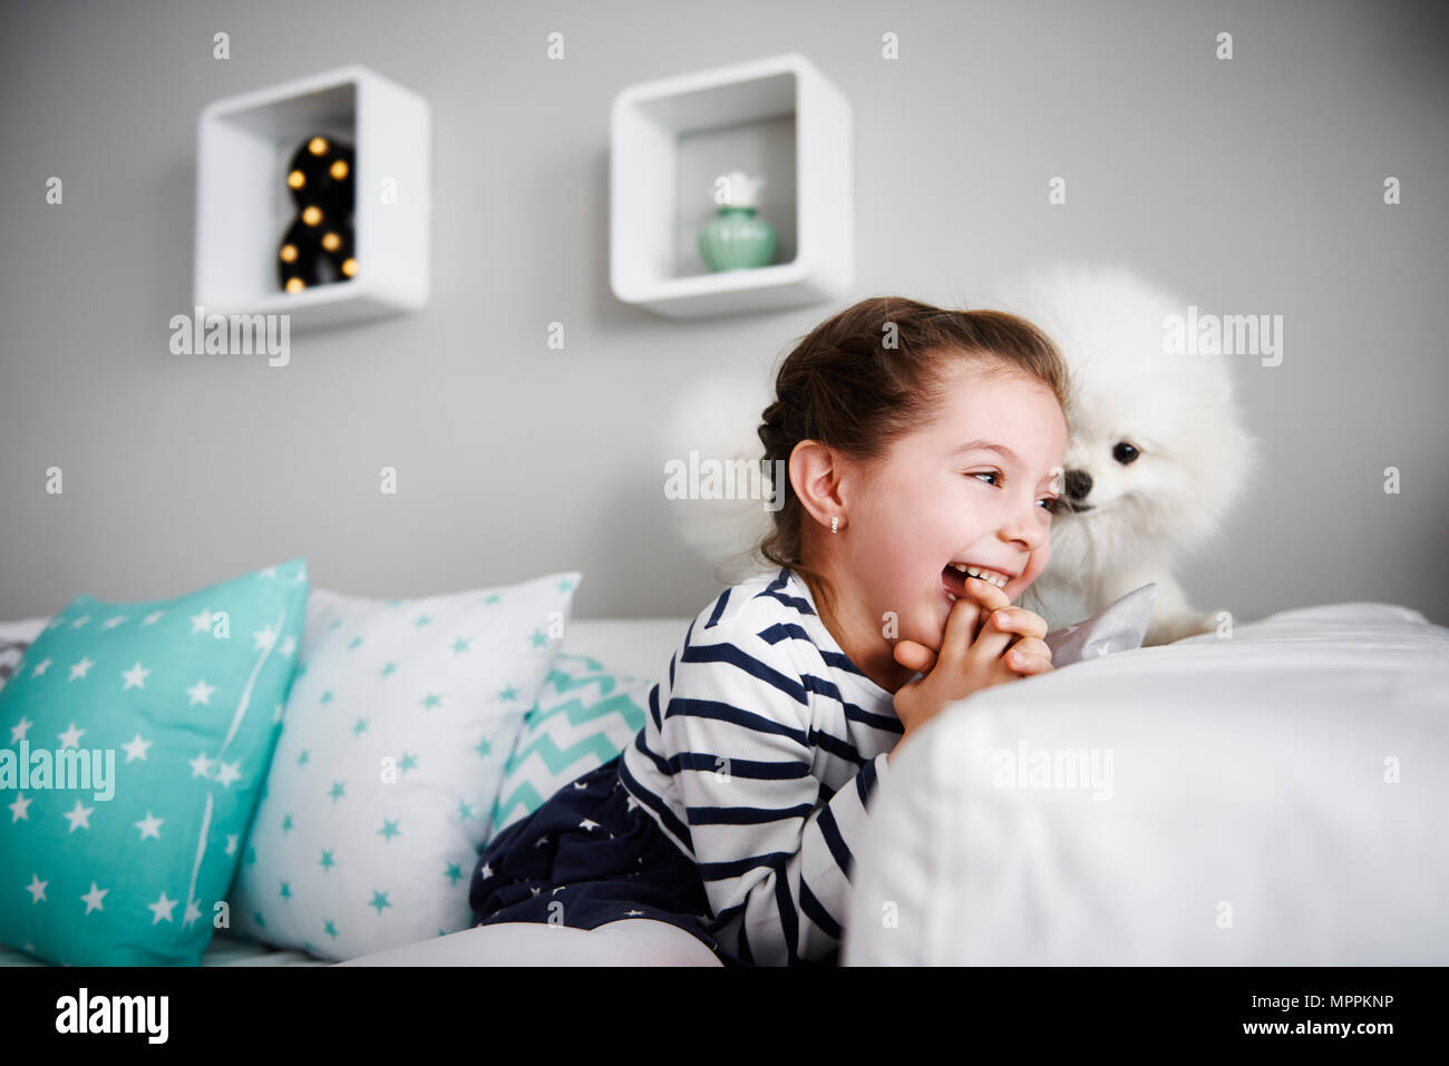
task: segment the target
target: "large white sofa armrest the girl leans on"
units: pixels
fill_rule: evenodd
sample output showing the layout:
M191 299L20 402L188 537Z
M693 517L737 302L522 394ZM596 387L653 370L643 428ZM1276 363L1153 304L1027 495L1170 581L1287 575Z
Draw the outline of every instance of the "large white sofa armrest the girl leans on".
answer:
M1446 724L1449 629L1391 604L978 692L875 794L842 963L1449 963Z

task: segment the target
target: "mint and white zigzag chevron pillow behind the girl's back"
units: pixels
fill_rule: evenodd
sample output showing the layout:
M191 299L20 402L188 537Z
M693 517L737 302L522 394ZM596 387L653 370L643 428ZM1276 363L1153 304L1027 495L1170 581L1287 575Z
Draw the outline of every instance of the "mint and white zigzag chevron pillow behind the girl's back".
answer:
M587 655L561 652L509 756L490 840L633 743L653 685L611 673Z

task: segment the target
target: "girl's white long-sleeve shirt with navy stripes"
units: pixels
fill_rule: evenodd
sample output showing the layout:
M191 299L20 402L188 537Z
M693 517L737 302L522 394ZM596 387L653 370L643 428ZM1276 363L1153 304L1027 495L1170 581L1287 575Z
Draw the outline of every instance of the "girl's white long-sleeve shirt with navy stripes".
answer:
M891 694L781 568L690 623L619 778L697 863L723 947L746 965L830 963L852 849L901 734Z

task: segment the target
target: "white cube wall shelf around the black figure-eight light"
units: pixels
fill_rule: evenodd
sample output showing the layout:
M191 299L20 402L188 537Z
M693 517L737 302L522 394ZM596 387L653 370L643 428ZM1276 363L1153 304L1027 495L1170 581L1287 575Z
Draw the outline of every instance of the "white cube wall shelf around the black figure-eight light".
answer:
M288 313L291 329L423 307L430 126L423 97L356 65L209 104L197 127L194 303L206 314ZM358 272L285 293L277 249L297 214L287 164L310 133L355 148Z

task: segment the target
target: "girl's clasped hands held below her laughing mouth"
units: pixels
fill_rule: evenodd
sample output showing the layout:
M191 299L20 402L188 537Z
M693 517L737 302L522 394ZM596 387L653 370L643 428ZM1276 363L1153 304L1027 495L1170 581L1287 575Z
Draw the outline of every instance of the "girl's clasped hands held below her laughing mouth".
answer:
M914 640L895 642L895 662L924 673L895 692L895 714L906 727L901 740L956 700L1053 669L1039 614L1011 607L1006 592L980 578L966 578L966 592L971 598L951 605L939 652ZM887 757L894 755L895 749Z

